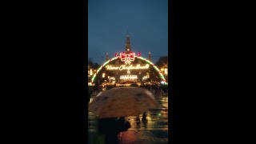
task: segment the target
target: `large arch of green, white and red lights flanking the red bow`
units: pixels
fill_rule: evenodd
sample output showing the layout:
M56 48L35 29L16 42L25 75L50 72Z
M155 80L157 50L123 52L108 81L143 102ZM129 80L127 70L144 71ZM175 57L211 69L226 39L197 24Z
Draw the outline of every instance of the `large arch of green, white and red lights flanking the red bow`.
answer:
M138 56L134 56L134 57L135 57L135 58L138 58L138 59L141 59L141 60L143 60L143 61L145 61L145 62L147 62L148 64L150 64L150 66L153 66L153 67L154 67L154 70L156 70L156 71L158 72L158 75L160 76L160 78L162 79L162 81L164 82L164 84L166 84L166 78L163 76L163 74L161 73L161 71L158 69L158 66L155 66L153 62L150 62L150 61L147 60L146 58L142 58L142 57L138 57ZM96 78L98 72L99 72L100 70L102 70L102 67L106 66L106 64L108 64L108 63L110 63L110 62L112 62L112 61L114 61L114 60L116 60L116 59L118 59L118 58L120 58L120 56L115 57L115 58L112 58L112 59L110 59L110 60L104 62L103 65L100 66L100 67L98 68L98 70L96 71L96 73L94 74L93 78L91 79L91 82L94 83L94 79Z

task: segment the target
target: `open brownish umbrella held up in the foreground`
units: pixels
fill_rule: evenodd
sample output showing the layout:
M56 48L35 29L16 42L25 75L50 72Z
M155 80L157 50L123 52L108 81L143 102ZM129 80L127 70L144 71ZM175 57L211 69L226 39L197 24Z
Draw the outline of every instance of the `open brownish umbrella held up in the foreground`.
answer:
M88 105L99 118L138 116L158 106L154 95L140 87L116 87L102 91Z

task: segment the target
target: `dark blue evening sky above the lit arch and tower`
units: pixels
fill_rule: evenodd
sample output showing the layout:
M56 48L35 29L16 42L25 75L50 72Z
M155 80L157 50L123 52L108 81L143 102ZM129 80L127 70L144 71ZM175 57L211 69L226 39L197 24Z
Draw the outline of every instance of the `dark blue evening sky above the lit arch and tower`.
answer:
M168 0L89 0L88 54L102 64L125 50L129 31L131 50L152 61L168 55Z

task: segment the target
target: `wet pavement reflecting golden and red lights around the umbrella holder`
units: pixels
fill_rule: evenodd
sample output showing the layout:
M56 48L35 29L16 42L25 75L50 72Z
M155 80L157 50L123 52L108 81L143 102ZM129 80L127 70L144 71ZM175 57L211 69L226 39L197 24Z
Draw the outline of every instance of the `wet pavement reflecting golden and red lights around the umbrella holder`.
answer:
M153 110L146 111L146 120L134 116L126 117L130 122L130 129L120 134L120 142L123 144L163 144L168 143L168 98L156 97L160 104ZM97 134L96 116L88 114L88 143L93 143Z

